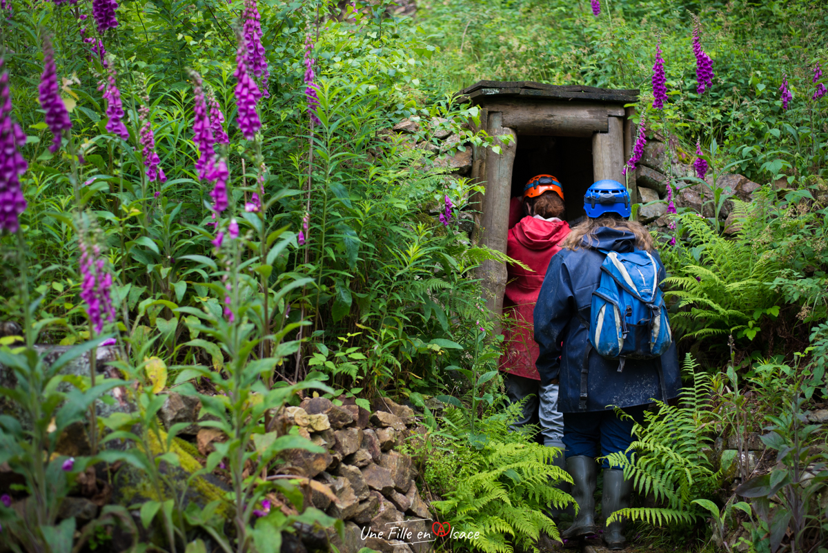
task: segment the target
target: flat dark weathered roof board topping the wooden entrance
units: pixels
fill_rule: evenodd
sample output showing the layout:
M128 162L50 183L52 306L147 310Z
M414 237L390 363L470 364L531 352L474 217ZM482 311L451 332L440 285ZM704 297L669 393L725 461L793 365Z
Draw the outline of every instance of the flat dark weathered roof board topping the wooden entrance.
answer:
M479 80L460 90L460 94L473 100L474 103L484 103L486 99L497 98L498 96L623 103L638 101L638 89L598 89L594 86L584 86L582 84L543 84L526 80Z

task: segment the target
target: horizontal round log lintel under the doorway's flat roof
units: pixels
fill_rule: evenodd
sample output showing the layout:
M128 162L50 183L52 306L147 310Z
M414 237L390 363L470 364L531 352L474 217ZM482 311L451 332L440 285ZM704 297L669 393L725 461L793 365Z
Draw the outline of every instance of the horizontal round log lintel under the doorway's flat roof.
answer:
M599 103L550 103L538 99L498 98L489 112L503 113L503 127L518 134L590 137L607 132L606 106Z

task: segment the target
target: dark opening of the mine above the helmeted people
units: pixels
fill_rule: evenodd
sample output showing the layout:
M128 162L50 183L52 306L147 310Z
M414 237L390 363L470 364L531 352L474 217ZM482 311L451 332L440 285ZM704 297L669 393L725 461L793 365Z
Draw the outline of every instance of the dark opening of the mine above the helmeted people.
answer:
M512 197L522 197L527 181L542 173L561 181L566 220L579 219L584 214L584 194L593 183L592 138L518 134L512 166Z

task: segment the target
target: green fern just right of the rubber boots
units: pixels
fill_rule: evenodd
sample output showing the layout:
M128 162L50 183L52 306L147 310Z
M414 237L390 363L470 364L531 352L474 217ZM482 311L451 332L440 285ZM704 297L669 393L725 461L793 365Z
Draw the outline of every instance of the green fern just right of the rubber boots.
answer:
M712 442L705 428L716 418L705 411L710 377L695 373L697 367L688 354L684 370L694 373L696 381L682 390L681 405L657 402L657 412L646 411L644 424L633 425L636 440L627 450L633 452L629 458L623 452L606 457L610 465L623 469L638 493L652 493L663 507L628 507L614 513L613 520L629 517L652 525L691 526L705 515L705 508L694 500L713 498L718 488L719 474L705 454Z

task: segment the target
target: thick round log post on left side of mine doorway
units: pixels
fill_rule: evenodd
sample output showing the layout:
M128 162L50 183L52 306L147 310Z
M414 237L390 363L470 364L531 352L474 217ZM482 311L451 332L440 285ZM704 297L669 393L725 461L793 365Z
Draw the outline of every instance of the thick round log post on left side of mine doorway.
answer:
M486 192L483 200L483 214L480 225L483 237L480 243L506 252L506 239L509 225L509 200L512 196L512 165L517 152L517 133L503 127L503 113L489 113L489 135L511 135L508 144L495 141L501 147L499 154L489 151L486 156L485 179ZM495 261L484 261L479 268L479 275L484 286L489 290L486 306L493 315L499 316L503 310L503 291L506 289L506 265ZM498 330L499 332L499 330Z

